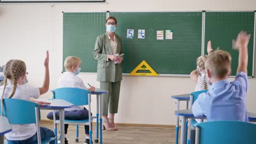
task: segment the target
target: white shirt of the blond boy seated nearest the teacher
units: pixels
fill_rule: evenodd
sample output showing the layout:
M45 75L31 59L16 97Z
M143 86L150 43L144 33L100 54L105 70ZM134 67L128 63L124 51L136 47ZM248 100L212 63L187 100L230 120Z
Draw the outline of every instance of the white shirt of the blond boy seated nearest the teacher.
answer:
M83 80L70 71L66 71L58 81L58 88L62 88L62 87L75 87L75 88L81 88L81 89L87 90ZM84 109L84 106L73 106L65 110L72 111L72 110L83 110L83 109Z

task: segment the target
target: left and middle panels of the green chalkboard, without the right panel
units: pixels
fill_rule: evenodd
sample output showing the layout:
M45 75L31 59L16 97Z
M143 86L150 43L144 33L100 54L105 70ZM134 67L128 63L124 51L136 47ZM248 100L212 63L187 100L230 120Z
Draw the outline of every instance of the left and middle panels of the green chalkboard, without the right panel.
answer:
M196 68L196 57L201 55L201 12L109 15L117 18L116 33L123 38L123 73L131 73L143 60L158 74L189 74ZM106 32L105 20L106 13L63 13L63 61L78 56L82 72L96 72L92 51L96 37ZM126 38L127 29L134 29L133 39ZM145 29L144 39L138 39L138 29ZM173 31L173 39L156 40L156 31L164 31L165 38L166 30Z

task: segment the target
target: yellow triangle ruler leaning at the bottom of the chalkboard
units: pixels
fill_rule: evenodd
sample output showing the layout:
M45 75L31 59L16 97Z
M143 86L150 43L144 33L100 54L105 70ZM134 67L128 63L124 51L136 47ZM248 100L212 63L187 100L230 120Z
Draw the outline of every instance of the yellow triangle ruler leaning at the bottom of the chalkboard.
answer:
M143 67L143 65L145 67ZM150 73L137 73L138 70L149 70ZM146 76L158 76L157 73L155 73L155 70L152 69L146 61L142 61L135 69L132 70L132 72L129 75L146 75Z

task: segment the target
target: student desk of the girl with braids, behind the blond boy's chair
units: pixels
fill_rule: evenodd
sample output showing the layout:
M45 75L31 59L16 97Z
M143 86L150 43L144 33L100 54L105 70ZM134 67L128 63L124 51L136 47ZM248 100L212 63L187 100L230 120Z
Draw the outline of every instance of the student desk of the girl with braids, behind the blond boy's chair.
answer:
M40 110L59 110L60 111L60 141L65 143L65 132L64 132L64 109L70 108L73 104L68 103L66 100L62 99L36 99L39 101L45 101L51 103L50 105L40 106Z

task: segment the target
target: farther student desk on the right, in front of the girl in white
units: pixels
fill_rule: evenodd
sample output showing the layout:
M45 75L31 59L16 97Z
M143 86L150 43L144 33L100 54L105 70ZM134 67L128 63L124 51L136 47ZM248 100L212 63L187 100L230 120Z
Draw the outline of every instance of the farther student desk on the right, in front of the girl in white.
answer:
M177 99L177 111L179 110L179 101L186 101L186 108L188 109L188 101L190 99L190 93L188 94L181 94L181 95L173 95L171 96L172 99ZM178 137L179 137L179 116L176 119L176 144L178 144Z

